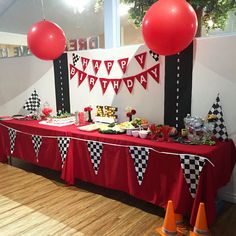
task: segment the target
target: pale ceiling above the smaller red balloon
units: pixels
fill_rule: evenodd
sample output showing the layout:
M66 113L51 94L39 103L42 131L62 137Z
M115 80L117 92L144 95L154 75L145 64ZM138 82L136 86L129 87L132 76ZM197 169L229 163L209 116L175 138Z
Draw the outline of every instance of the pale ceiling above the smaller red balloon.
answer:
M0 0L0 32L27 34L31 25L43 20L45 15L46 20L63 29L67 39L103 34L103 11L95 13L95 0L90 0L82 13L76 13L68 1Z

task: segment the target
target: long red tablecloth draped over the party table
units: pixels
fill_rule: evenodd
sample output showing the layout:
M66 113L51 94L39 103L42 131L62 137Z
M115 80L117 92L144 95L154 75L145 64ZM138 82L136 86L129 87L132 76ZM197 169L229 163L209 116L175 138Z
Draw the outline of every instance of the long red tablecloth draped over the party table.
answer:
M8 128L17 131L14 152L10 154ZM43 137L38 162L32 145L31 135ZM64 166L58 149L57 137L70 137L70 144ZM103 143L101 162L97 175L93 169L87 140ZM142 184L139 185L130 157L129 146L150 148L148 165ZM156 151L154 151L156 150ZM162 152L169 152L162 153ZM173 155L176 153L176 155ZM180 164L180 154L195 154L208 158L201 172L197 193L193 198L189 192ZM234 143L219 142L215 146L183 145L156 142L127 135L107 135L96 131L80 131L75 125L52 127L38 124L38 121L0 121L0 160L6 161L12 155L33 164L61 171L61 177L68 184L75 178L111 189L121 190L155 205L166 207L173 200L176 213L190 216L194 225L199 202L206 204L208 223L216 216L215 197L219 187L225 185L231 176L236 150Z

